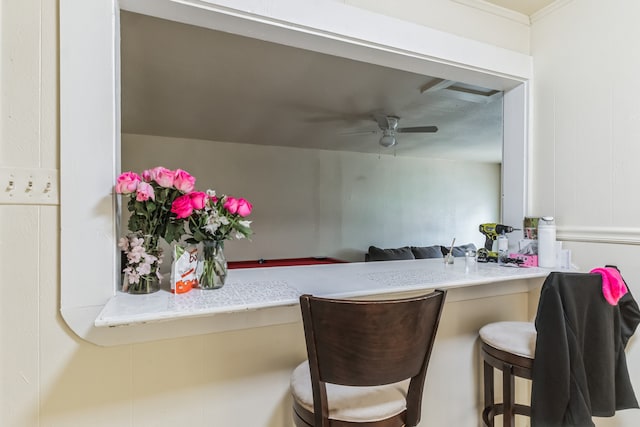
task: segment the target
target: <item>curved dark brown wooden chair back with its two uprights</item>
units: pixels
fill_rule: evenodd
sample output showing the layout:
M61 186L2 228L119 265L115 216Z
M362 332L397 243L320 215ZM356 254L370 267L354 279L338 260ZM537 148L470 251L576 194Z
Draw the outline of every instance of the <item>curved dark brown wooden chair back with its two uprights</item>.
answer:
M316 426L328 426L326 383L377 386L411 379L405 423L420 421L422 391L446 291L360 301L302 295Z

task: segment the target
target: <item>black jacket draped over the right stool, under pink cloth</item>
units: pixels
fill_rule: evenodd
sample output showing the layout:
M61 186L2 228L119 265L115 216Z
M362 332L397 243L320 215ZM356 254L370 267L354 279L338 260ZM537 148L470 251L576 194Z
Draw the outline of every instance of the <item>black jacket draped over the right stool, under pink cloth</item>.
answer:
M624 352L638 323L631 293L610 305L599 274L551 273L535 321L531 426L593 426L592 415L638 408Z

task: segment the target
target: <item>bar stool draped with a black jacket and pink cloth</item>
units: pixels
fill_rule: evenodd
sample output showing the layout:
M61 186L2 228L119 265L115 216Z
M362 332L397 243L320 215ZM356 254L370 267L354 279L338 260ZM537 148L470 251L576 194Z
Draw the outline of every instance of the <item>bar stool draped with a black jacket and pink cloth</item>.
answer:
M480 330L485 425L498 414L504 426L513 425L514 415L539 426L593 425L593 416L640 407L625 356L638 325L640 307L617 267L551 272L535 326L496 322ZM494 401L494 368L503 374L502 403ZM515 377L531 380L530 406L514 402Z

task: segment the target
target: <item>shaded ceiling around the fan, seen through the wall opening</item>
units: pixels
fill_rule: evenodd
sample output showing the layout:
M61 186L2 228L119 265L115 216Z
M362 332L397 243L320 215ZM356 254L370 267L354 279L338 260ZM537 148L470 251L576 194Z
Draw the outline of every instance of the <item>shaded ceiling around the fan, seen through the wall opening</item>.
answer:
M495 91L131 12L121 27L125 133L501 162ZM439 130L385 149L378 114Z

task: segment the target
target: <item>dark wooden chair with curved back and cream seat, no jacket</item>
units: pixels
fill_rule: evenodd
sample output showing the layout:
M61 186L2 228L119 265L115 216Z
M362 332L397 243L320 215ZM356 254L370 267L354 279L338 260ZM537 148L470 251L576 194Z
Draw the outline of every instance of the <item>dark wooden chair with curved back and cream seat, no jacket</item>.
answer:
M308 361L291 377L298 427L416 426L446 291L396 300L300 297Z

